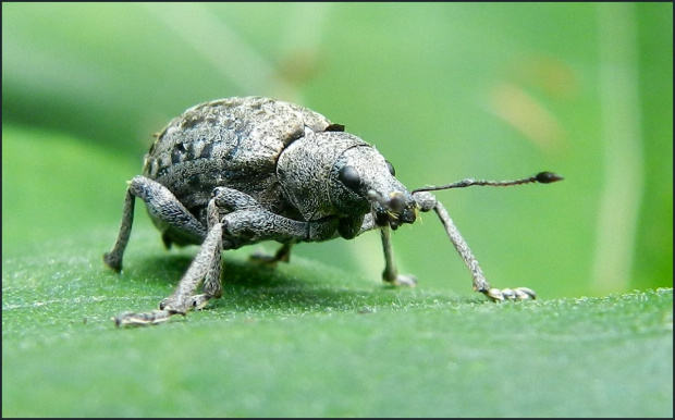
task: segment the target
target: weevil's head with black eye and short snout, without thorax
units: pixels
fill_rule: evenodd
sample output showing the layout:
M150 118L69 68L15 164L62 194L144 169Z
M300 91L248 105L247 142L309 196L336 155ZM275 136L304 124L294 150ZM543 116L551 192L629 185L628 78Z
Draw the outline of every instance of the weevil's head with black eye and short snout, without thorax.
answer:
M372 212L376 224L396 230L415 222L417 202L372 146L345 150L331 171L331 202L344 213Z

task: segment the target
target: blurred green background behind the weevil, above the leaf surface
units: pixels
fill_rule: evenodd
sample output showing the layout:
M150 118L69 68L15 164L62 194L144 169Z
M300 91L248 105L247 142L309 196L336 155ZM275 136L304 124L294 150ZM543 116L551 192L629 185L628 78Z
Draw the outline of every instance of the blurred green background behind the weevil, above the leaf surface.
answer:
M563 174L438 194L498 286L672 285L672 34L670 3L3 3L3 248L93 227L112 244L151 134L256 95L345 124L409 188ZM395 233L398 265L470 293L434 218ZM365 236L295 252L379 279Z

